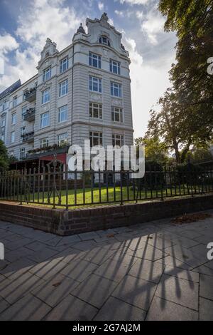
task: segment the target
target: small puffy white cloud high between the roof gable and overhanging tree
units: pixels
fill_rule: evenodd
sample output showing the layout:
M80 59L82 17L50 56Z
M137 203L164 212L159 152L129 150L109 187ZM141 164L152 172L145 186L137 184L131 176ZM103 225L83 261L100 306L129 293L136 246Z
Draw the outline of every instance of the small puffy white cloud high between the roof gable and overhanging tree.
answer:
M165 18L163 18L159 11L152 9L141 24L141 31L145 31L149 41L153 45L156 45L158 44L158 33L163 33L164 24Z

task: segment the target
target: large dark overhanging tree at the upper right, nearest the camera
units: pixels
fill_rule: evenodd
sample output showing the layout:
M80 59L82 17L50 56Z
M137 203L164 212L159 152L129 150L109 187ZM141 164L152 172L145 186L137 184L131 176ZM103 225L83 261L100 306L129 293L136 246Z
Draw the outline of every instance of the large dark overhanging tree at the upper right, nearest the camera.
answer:
M213 3L160 0L158 9L166 16L165 31L178 36L170 79L185 113L185 134L202 144L211 140L213 129L213 76L207 73L207 60L213 56Z

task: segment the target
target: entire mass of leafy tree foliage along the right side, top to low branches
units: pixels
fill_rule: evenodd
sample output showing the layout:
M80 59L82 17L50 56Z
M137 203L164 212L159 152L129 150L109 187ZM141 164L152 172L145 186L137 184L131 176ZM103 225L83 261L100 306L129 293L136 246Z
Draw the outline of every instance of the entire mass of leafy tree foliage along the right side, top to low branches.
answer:
M207 60L213 56L212 0L160 0L165 31L176 31L176 63L170 70L173 88L159 99L160 111L151 110L148 136L158 136L175 150L177 163L185 161L191 145L212 140L213 76Z

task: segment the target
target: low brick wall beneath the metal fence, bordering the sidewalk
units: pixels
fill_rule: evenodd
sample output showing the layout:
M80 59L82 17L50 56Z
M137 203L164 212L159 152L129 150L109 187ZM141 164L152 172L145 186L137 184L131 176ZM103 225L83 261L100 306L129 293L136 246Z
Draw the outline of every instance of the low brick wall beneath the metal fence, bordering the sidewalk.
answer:
M156 200L138 204L109 205L77 210L0 202L0 220L60 235L77 234L143 223L213 208L213 195ZM1 222L0 222L1 227Z

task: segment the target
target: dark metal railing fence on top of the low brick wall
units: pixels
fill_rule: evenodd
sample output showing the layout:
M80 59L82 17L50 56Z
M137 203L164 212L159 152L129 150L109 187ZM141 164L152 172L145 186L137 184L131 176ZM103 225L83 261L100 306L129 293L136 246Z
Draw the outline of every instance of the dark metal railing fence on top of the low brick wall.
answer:
M45 168L0 174L0 199L55 207L165 199L213 192L213 167L146 165L141 179L132 171L70 172L53 160Z

